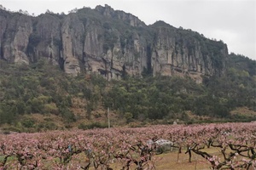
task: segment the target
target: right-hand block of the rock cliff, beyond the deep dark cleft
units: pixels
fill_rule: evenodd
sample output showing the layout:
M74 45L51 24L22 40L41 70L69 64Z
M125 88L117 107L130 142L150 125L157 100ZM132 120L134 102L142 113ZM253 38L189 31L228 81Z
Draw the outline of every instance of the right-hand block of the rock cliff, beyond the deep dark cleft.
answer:
M201 82L201 75L224 74L228 49L223 42L161 21L152 27L156 31L151 58L154 75L188 75Z

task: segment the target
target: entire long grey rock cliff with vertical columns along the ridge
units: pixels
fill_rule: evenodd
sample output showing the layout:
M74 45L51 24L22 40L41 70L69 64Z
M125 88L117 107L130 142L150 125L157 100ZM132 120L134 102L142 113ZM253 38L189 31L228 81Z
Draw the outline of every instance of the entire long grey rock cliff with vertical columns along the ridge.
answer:
M0 9L0 59L34 63L46 58L74 76L96 72L108 79L145 73L221 76L228 50L223 42L158 21L146 26L132 14L106 5L70 14L32 17Z

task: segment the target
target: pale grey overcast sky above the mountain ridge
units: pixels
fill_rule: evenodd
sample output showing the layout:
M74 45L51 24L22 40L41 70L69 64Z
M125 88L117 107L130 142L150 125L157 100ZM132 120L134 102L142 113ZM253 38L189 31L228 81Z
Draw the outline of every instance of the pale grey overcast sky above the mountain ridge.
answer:
M73 8L108 4L136 15L147 25L164 20L223 40L229 52L256 60L256 0L0 0L0 4L36 15L47 9L67 14Z

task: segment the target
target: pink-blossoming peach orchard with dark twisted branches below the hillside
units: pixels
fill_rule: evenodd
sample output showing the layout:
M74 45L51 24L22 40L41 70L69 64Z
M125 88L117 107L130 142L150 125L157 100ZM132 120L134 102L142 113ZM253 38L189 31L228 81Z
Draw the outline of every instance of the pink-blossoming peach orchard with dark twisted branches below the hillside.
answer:
M1 134L0 169L155 169L158 139L212 169L256 168L256 122L247 122Z

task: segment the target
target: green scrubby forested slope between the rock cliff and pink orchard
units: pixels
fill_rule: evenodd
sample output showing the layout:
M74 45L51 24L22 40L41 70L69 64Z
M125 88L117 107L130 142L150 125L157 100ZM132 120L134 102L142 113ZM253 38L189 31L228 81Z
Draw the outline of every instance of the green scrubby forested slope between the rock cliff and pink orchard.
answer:
M1 127L18 132L107 127L107 108L112 126L177 119L184 123L256 120L256 61L241 55L230 54L226 74L203 77L202 84L190 77L152 77L146 72L144 78L124 75L119 81L95 74L73 77L48 62L10 65L0 60Z

